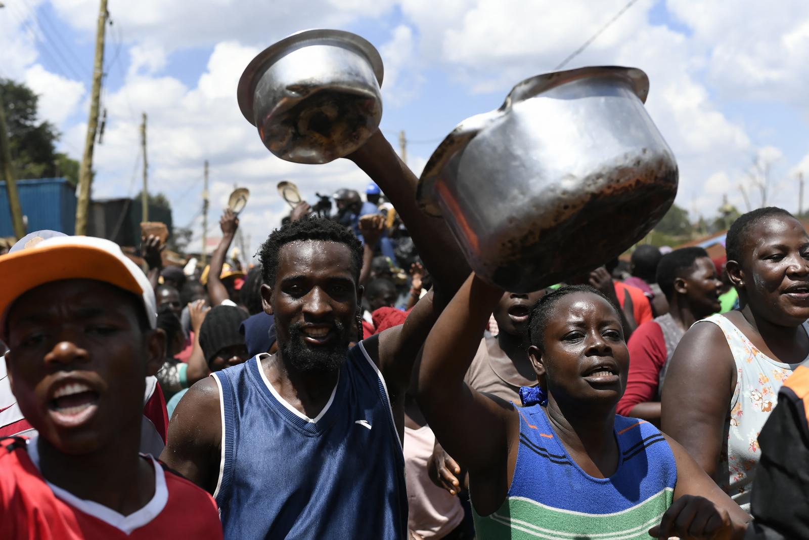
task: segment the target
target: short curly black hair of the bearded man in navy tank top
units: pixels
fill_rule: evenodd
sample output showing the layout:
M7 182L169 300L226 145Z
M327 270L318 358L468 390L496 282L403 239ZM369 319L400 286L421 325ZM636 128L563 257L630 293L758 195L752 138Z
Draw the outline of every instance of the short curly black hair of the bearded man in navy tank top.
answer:
M274 287L278 271L278 253L281 253L281 248L286 244L299 240L324 240L345 244L351 250L354 279L359 283L359 271L362 269L362 243L348 227L328 218L314 216L282 225L267 237L264 244L261 244L258 255L261 259L264 283Z

